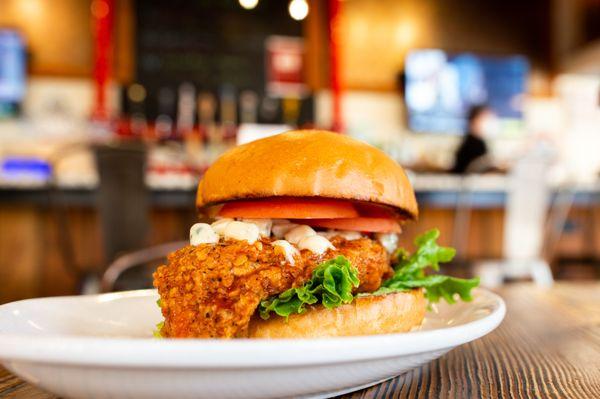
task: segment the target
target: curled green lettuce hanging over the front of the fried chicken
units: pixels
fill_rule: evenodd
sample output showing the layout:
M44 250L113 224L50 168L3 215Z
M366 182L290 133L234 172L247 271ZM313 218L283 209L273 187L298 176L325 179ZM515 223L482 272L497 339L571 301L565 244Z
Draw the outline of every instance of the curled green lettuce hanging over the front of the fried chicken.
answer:
M352 289L358 287L358 271L344 256L321 263L313 271L311 279L301 287L290 288L260 303L260 317L267 320L274 312L289 317L306 311L306 305L323 304L335 308L354 299Z

